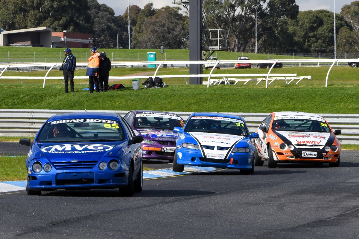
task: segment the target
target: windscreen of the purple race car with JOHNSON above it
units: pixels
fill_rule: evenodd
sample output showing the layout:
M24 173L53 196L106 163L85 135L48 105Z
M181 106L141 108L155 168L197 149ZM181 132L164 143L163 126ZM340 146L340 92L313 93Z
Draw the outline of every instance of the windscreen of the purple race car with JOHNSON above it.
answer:
M168 129L173 130L174 127L183 127L184 123L181 117L175 115L154 115L140 113L136 114L135 129Z

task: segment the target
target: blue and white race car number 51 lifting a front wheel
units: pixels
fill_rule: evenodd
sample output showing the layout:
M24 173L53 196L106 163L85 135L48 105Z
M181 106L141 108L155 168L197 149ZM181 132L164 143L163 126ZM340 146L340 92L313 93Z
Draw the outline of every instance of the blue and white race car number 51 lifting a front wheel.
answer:
M192 113L178 132L173 171L182 172L185 165L240 169L253 174L252 139L244 119L240 116L220 113Z

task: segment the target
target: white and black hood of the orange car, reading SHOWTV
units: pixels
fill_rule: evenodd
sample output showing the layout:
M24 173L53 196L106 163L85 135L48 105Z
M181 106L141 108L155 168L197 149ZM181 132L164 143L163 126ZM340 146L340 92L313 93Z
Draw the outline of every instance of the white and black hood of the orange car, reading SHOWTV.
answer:
M316 132L298 132L298 131L275 131L282 140L283 137L289 140L294 145L308 145L308 146L324 146L331 136L332 133L316 133ZM283 140L285 141L285 140Z

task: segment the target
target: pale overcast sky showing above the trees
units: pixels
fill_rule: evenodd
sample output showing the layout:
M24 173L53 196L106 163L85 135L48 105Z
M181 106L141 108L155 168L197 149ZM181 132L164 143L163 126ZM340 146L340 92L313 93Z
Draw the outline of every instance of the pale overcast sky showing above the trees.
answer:
M125 13L129 6L129 0L97 0L100 4L106 4L115 11L115 15L122 15ZM180 6L173 4L174 0L130 0L130 5L137 5L143 8L149 2L153 3L154 8L162 8L163 6ZM295 2L299 6L299 11L326 9L328 11L334 11L335 0L296 0ZM352 0L336 0L335 12L340 13L342 6L350 4Z

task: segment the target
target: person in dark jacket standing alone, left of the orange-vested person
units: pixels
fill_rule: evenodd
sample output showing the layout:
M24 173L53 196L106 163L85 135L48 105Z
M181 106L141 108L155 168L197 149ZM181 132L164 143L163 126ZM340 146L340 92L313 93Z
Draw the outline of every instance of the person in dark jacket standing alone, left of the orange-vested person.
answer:
M62 71L62 75L64 76L65 81L65 93L69 89L69 79L70 79L70 90L74 91L74 73L76 68L76 57L72 54L71 49L67 48L64 50L65 58L64 62L60 66L60 71Z

